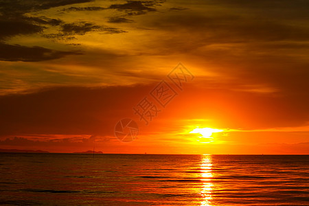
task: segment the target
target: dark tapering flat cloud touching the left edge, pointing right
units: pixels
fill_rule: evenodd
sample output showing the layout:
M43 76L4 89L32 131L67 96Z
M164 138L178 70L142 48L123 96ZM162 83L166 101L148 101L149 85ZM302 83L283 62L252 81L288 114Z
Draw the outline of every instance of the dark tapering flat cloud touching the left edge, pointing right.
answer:
M62 58L71 54L81 54L80 52L61 52L43 47L25 47L21 45L8 45L0 43L0 60L3 61L24 61L38 62Z

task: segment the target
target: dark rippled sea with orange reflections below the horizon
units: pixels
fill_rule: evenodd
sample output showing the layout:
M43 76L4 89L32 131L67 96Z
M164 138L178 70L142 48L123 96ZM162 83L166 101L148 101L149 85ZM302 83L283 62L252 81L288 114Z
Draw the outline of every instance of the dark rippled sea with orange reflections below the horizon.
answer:
M1 205L309 205L309 155L0 154Z

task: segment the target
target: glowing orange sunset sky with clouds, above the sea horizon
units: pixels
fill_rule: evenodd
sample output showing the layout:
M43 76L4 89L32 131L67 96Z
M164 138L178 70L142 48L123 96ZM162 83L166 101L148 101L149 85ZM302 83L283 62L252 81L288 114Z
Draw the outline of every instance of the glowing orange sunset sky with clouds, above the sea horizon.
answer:
M0 5L0 148L308 154L304 1L8 1ZM193 74L179 89L179 62ZM133 107L176 96L146 125ZM151 98L151 97L150 97ZM134 119L137 139L115 137ZM194 128L218 128L201 143Z

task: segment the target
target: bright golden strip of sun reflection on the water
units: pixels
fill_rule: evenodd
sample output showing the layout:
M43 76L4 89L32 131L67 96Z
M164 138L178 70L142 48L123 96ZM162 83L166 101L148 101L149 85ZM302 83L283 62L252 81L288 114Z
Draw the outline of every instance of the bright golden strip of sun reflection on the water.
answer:
M211 191L212 183L210 182L213 174L211 173L211 155L203 155L201 159L201 181L203 183L201 187L201 196L203 200L201 201L201 206L211 205Z

